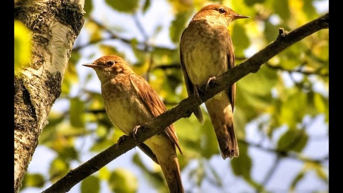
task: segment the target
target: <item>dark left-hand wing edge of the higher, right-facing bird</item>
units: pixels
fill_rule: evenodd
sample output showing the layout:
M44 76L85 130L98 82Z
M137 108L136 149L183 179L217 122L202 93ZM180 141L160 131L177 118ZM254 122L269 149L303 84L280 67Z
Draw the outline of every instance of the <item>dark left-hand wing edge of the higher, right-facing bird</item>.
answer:
M182 36L183 36L185 31L186 30L184 30L182 32L181 40L182 40ZM191 95L194 94L194 89L196 89L196 88L194 87L193 83L190 81L190 79L188 77L188 74L187 74L187 71L186 71L186 67L185 67L184 61L183 61L183 55L182 55L181 47L180 47L180 63L181 63L181 70L182 70L183 77L184 77L184 83L186 85L187 94L188 94L188 96L191 96ZM201 123L201 125L203 125L204 124L204 117L202 115L200 106L197 106L193 110L193 112L194 112L194 115L196 116L196 118L198 119L198 121Z

